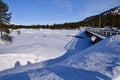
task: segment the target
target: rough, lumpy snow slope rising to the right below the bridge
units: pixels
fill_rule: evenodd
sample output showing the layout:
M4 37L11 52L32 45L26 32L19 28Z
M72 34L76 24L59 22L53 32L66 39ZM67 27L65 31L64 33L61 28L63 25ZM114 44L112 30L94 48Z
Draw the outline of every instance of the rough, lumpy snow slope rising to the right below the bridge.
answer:
M109 78L120 76L120 35L105 39L85 51L63 61L62 65L97 71ZM116 79L115 79L116 80Z

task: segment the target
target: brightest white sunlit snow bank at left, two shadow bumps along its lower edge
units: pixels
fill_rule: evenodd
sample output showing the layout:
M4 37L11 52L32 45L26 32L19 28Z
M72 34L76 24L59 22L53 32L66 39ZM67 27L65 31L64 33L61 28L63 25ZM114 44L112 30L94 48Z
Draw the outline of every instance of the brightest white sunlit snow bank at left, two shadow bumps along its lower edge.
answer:
M45 60L45 58L36 57L32 54L1 54L0 63L2 65L0 66L0 71L14 67L17 61L19 61L21 65L26 65L28 61L38 63L43 60Z

